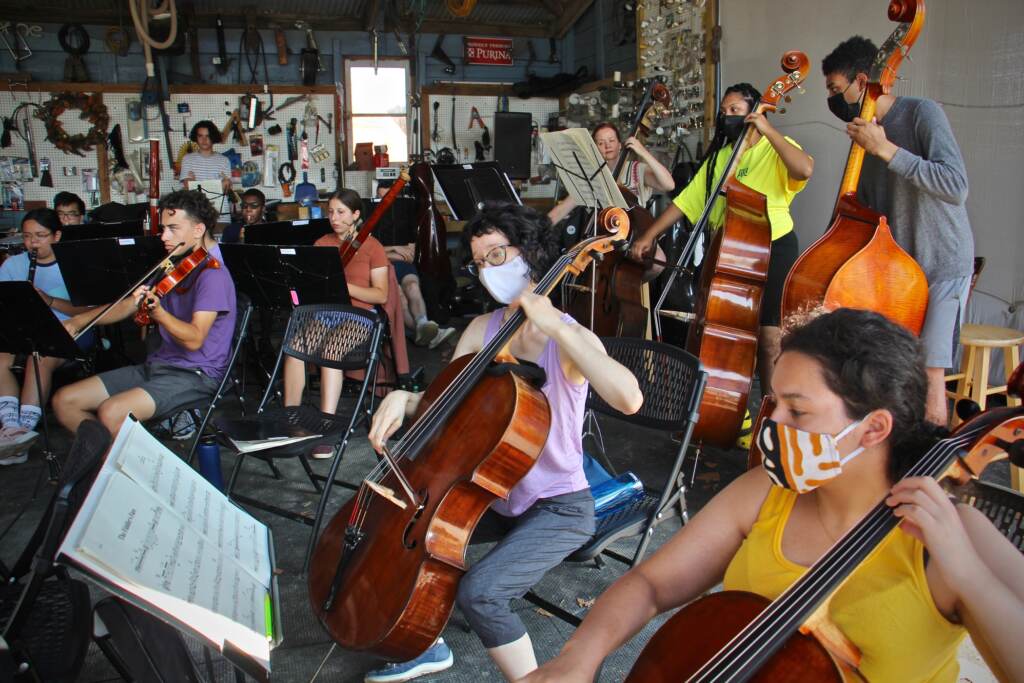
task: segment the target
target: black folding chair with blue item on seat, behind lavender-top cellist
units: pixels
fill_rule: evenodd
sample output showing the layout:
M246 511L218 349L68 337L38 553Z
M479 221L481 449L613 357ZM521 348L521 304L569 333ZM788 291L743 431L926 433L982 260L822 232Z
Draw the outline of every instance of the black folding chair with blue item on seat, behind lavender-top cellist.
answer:
M642 498L601 516L594 537L565 561L580 563L593 560L600 566L603 556L634 567L643 559L654 527L671 517L667 514L670 508L678 504L680 521L684 524L687 521L683 459L697 422L697 410L708 373L701 369L696 356L670 344L618 337L601 341L608 355L636 376L643 392L643 405L635 415L624 415L591 391L588 408L630 425L664 431L667 438L679 435L679 447L665 483L659 488L645 486ZM600 439L597 443L602 452L599 456L606 461L603 443ZM617 541L636 537L640 537L640 541L632 557L608 548ZM532 591L523 597L567 624L579 626L582 621Z

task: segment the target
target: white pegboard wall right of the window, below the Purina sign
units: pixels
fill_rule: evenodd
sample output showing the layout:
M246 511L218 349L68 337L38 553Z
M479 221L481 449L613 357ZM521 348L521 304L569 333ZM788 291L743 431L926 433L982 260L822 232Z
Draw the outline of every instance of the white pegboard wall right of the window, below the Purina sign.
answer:
M548 117L558 114L558 99L556 97L530 97L521 99L509 96L509 112L527 112L534 117L534 123L538 130L546 131L548 128ZM434 104L437 108L434 108ZM480 120L490 131L490 150L484 155L484 161L493 161L495 158L495 111L498 109L499 97L495 95L451 95L430 93L423 97L423 112L429 113L430 128L423 132L423 146L425 150L432 150L437 154L443 147L454 150L456 161L459 163L472 163L476 160L474 142L483 141L483 128L478 122L473 122L473 108L476 108ZM456 140L452 140L452 110L455 108L455 134ZM472 125L470 125L472 123ZM436 131L436 135L434 132ZM538 137L534 137L534 154L530 155L530 175L541 175L539 166L544 163L543 145ZM347 174L346 174L347 179ZM554 196L555 185L538 184L530 185L524 183L520 195L527 198L545 198Z

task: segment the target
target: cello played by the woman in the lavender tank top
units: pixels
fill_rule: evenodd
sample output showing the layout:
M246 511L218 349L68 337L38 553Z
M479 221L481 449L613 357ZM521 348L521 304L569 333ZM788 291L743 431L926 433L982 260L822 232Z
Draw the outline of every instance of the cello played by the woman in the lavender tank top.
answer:
M610 234L560 256L535 293L547 295L566 272L582 272L595 253L612 250L629 232L621 208L598 219ZM547 399L504 350L524 321L515 310L478 353L442 371L406 435L384 450L384 460L318 539L309 599L342 647L410 659L443 630L473 528L525 476L547 440Z

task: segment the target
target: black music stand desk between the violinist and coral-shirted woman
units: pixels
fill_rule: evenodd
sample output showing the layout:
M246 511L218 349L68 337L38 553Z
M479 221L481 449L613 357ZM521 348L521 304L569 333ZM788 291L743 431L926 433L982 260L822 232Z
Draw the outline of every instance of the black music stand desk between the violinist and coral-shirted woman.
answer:
M351 304L345 270L334 247L225 244L220 245L220 253L234 286L257 307Z

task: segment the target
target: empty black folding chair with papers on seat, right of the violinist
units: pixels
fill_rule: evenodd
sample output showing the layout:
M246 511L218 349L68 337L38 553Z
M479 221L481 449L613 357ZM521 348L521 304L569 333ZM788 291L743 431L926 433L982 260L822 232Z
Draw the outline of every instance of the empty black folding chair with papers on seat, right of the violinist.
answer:
M256 415L251 419L243 421L243 424L250 423L250 421L266 421L279 424L284 422L319 434L317 438L297 443L289 443L279 447L251 453L239 453L234 461L234 468L231 470L231 475L228 479L226 492L228 498L234 501L312 526L306 551L307 565L309 555L312 553L313 544L319 531L324 511L327 509L332 485L338 483L352 490L358 488L354 484L337 481L335 475L338 471L338 466L341 464L342 456L348 447L349 436L355 431L356 426L360 422L366 421L367 425L370 424L370 416L373 411L373 389L375 388L377 366L380 362L381 355L381 340L383 338L384 322L372 310L342 304L298 306L292 311L292 315L288 321L285 338L282 340L281 350L278 352L278 360L274 364L270 382L263 393L263 398L260 400ZM266 410L266 404L273 394L274 383L279 373L281 373L286 354L304 362L324 368L333 368L341 371L366 371L351 414L347 418L343 415L328 415L308 405ZM214 425L222 434L228 437L231 436L232 431L238 434L238 428L233 425L219 423L216 420L214 421ZM313 446L321 443L332 443L334 446L331 470L327 476L313 472L309 466L307 456ZM225 445L231 447L230 441L225 441ZM298 458L313 488L321 495L319 505L316 508L316 515L313 519L310 520L307 515L293 510L237 494L234 489L238 484L239 473L242 471L242 466L247 458L256 458L271 464L271 466L273 461L279 458ZM272 469L278 474L276 468ZM322 481L325 482L324 486L321 486Z

